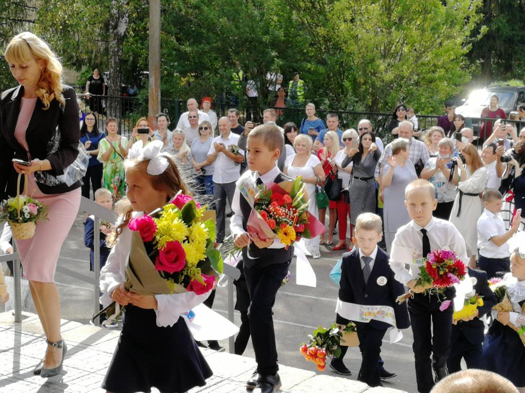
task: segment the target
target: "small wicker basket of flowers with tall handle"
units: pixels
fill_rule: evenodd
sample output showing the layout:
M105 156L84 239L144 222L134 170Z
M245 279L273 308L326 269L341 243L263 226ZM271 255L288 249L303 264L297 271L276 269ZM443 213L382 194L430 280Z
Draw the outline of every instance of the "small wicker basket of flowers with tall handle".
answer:
M9 223L15 239L26 240L35 236L36 223L46 220L47 206L30 196L20 195L21 176L18 174L16 197L0 203L0 219ZM27 188L27 177L25 183Z

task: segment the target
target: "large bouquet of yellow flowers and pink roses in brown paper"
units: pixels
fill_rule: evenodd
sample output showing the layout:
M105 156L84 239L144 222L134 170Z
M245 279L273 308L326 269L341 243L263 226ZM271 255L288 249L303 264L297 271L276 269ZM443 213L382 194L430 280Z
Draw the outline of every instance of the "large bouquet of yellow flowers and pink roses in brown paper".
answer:
M206 206L179 193L163 208L130 220L131 253L124 288L149 295L212 290L223 272L223 259L214 248L215 222L206 218L207 213ZM92 318L115 312L113 302Z

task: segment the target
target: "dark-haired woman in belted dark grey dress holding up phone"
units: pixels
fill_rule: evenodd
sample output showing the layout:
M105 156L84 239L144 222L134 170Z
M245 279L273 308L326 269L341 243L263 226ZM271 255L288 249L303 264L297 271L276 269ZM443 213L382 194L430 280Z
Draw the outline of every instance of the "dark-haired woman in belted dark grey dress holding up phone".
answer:
M375 135L366 132L359 137L359 150L350 150L348 159L343 161L343 167L350 161L353 165L353 179L350 184L350 222L355 225L361 213L375 213L375 180L374 172L381 151L375 145Z

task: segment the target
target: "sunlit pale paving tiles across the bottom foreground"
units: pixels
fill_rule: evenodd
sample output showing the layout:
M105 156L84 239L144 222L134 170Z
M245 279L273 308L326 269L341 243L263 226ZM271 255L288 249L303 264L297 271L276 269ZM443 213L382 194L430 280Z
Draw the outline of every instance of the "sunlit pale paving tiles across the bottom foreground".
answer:
M45 351L43 331L37 315L23 313L23 322L14 323L13 312L0 313L0 391L2 393L86 393L102 392L120 331L101 329L62 320L62 336L68 344L64 370L43 379L33 367ZM245 382L255 368L255 359L203 349L214 375L202 388L189 393L244 392ZM301 356L299 352L297 356ZM306 363L305 363L306 366ZM358 381L318 375L310 370L280 366L283 393L402 393L391 388L369 388ZM153 391L157 391L153 389Z

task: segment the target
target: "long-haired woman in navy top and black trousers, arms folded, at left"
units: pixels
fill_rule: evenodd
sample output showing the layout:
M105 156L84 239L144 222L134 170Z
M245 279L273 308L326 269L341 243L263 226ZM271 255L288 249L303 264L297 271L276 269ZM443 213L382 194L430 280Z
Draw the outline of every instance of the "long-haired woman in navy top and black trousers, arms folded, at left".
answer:
M97 156L98 144L105 136L104 133L100 133L98 130L95 114L88 112L80 128L80 142L84 145L90 156L86 176L82 178L82 196L88 199L90 182L93 195L95 195L95 191L102 187L103 165L102 162L97 159Z

